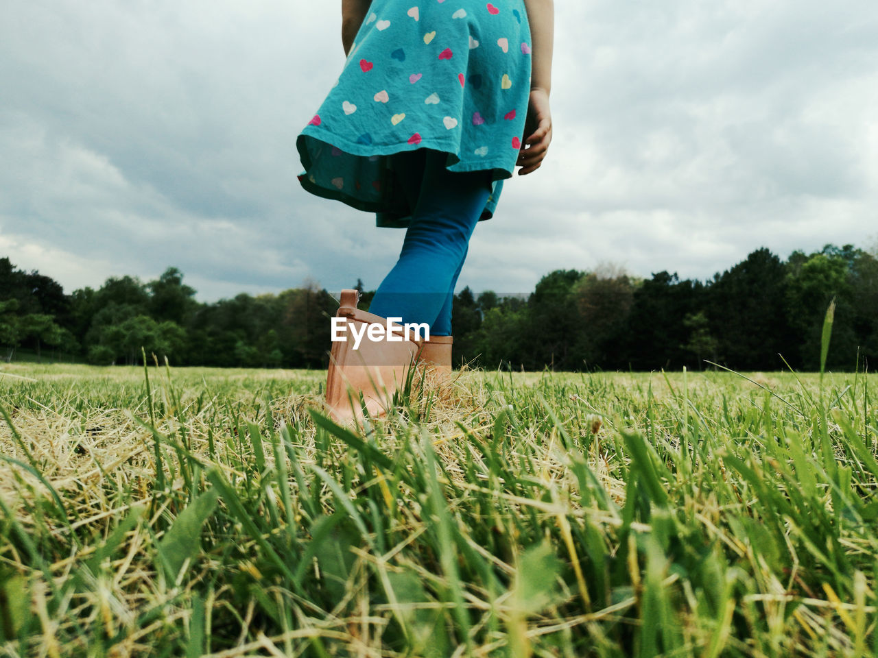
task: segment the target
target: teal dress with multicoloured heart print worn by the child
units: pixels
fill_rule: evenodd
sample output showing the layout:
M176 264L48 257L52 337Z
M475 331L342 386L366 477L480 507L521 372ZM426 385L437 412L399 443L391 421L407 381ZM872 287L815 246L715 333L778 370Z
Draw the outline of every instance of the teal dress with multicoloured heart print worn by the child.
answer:
M523 0L373 0L342 74L296 146L299 182L405 227L394 154L430 148L450 171L490 170L491 218L522 147L530 93Z

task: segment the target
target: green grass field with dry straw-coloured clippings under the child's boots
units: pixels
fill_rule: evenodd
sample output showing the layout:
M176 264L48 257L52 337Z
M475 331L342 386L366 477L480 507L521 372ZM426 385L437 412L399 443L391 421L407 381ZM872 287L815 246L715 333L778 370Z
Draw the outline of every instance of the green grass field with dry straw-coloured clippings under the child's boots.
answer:
M874 375L0 371L0 653L878 649Z

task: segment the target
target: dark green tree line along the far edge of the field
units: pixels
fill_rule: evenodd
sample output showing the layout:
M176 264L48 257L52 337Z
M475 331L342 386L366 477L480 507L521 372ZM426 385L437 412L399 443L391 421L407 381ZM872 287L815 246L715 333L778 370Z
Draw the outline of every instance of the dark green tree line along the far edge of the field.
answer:
M363 290L368 308L374 291ZM326 368L338 306L315 283L278 294L202 303L177 268L155 280L107 279L65 294L37 271L0 259L0 346L12 361L97 365ZM556 270L528 295L462 290L452 323L456 363L538 370L737 370L819 365L824 314L835 300L828 367L878 358L878 258L827 245L786 261L761 248L708 281L663 271L640 279L613 267Z

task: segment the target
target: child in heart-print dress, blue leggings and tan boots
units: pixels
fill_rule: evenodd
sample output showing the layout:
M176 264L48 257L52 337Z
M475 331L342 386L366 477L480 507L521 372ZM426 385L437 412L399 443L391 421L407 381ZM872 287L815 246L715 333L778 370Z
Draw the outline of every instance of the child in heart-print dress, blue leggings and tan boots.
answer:
M381 413L376 394L392 392L406 361L450 369L451 305L470 236L493 216L503 180L516 166L536 171L551 142L553 22L553 0L342 0L348 58L297 140L299 182L375 212L378 226L406 228L370 312L345 291L339 315L354 331L401 318L429 333L421 340L400 327L399 342L356 355L359 369L351 341L335 342L335 418L350 418L342 379Z

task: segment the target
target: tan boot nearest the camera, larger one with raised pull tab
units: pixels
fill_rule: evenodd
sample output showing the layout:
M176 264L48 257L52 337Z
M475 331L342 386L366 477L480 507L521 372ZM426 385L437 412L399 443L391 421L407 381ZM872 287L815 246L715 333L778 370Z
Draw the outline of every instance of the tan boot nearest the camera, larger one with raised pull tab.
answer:
M393 393L401 389L417 361L424 344L413 332L401 325L392 325L394 339L387 340L385 331L372 340L371 325L387 327L386 318L356 308L357 290L342 290L341 305L336 318L345 318L337 332L344 341L333 341L327 372L327 406L337 422L362 419L360 395L371 416L383 416L389 410ZM355 349L356 336L361 340ZM450 365L450 364L449 364Z

